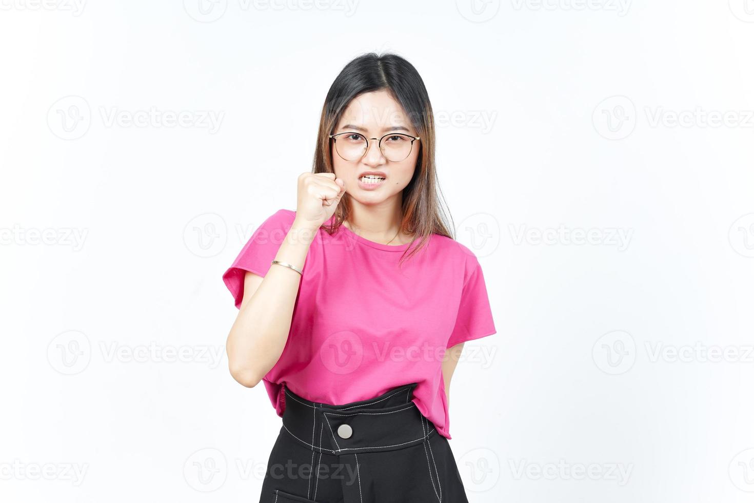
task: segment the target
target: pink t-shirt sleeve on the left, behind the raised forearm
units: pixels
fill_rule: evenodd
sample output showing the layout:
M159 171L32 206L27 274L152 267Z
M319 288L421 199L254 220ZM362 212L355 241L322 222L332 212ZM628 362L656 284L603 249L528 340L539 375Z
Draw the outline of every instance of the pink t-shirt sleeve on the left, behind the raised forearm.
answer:
M264 276L269 271L272 260L277 255L280 244L293 225L296 212L292 210L277 210L262 222L254 231L247 244L241 249L241 253L233 264L222 275L222 281L228 287L235 300L235 306L241 308L244 299L244 280L246 271Z

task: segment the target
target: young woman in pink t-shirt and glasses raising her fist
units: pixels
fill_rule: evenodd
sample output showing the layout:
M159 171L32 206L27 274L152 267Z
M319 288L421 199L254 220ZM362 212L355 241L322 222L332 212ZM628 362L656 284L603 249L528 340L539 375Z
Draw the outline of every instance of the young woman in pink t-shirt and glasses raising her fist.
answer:
M418 72L394 54L352 60L296 211L268 216L223 275L240 310L231 374L264 382L283 418L260 503L467 501L450 379L463 343L495 325L438 192Z

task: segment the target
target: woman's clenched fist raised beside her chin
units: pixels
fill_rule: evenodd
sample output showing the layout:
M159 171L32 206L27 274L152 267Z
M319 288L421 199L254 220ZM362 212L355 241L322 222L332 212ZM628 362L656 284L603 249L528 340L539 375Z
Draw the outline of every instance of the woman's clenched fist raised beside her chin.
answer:
M335 173L301 173L296 219L311 229L320 228L333 216L344 194L345 182Z

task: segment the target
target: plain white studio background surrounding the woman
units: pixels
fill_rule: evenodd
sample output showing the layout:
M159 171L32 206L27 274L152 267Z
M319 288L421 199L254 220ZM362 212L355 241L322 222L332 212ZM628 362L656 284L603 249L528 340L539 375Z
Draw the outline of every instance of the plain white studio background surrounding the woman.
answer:
M425 80L495 314L470 501L752 501L754 2L72 1L0 0L3 501L258 501L221 276L366 51Z

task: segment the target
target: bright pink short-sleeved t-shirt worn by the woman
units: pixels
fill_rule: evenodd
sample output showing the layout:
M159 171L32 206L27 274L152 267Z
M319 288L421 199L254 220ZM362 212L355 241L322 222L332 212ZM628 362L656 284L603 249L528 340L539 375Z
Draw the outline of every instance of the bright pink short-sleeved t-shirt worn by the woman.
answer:
M237 308L246 271L267 274L295 217L292 210L269 216L225 271L222 279ZM452 438L445 350L496 333L495 324L474 253L433 234L399 270L408 247L369 241L345 225L333 235L317 231L283 354L263 378L278 416L285 409L283 382L301 397L335 405L418 382L413 402L440 434Z

